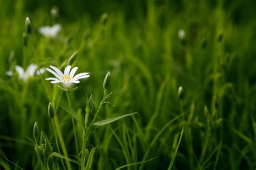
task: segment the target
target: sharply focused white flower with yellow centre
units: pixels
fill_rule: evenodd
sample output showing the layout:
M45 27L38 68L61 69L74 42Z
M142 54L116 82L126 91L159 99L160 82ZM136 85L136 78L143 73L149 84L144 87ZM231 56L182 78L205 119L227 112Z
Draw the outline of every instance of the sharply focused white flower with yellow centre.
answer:
M71 66L67 66L64 70L64 73L62 73L57 67L50 67L52 69L46 68L46 70L48 70L48 72L50 72L51 74L55 75L57 79L54 77L49 77L45 80L52 80L51 83L62 83L64 89L69 89L73 85L73 83L80 83L80 81L78 81L79 79L84 79L90 76L88 75L89 73L79 73L74 76L78 67L74 67L71 69Z

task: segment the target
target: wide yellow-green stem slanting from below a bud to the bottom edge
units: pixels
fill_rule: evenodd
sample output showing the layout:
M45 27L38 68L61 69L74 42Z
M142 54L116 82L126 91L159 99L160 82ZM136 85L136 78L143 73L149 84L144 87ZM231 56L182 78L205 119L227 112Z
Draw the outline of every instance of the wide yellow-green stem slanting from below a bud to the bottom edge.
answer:
M60 143L60 146L62 147L64 157L69 158L68 152L66 151L66 146L65 146L65 143L64 143L64 140L62 137L62 132L60 131L60 126L59 126L59 121L58 121L57 115L55 115L55 117L54 117L54 122L56 125L56 132L58 134L59 143ZM65 159L65 161L66 161L66 166L68 167L69 170L71 170L72 168L71 168L70 161L68 159Z

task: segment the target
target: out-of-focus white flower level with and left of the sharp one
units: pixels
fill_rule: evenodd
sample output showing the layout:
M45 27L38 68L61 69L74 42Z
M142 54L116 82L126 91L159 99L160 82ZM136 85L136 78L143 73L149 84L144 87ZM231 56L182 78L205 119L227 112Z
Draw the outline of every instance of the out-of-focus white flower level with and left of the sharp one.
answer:
M29 78L39 75L39 74L43 74L45 72L45 68L40 68L38 69L38 66L34 63L31 63L31 65L29 65L25 72L24 69L21 66L15 66L15 70L18 73L19 79L21 79L23 82L26 82ZM13 73L11 71L7 71L6 75L11 76Z

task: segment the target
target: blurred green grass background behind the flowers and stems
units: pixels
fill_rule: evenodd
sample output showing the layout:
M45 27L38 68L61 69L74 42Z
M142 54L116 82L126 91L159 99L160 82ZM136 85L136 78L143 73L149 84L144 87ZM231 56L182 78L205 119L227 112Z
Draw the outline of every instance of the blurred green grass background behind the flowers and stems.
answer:
M57 40L49 40L37 30L56 22L50 13L54 5L58 6L57 22L63 29ZM138 132L132 119L111 126L122 129L126 124L131 135L138 140L137 150L134 149L137 157L132 157L130 163L141 161L159 130L180 114L177 89L183 86L186 121L177 121L162 134L147 157L150 159L158 155L158 158L144 167L168 168L173 145L177 143L178 134L185 125L175 162L177 169L198 168L220 142L223 147L217 169L255 168L256 1L0 0L0 6L0 76L8 87L14 86L10 77L5 75L10 68L9 55L14 51L16 63L21 65L24 56L22 33L25 31L25 17L29 16L33 29L31 41L40 57L56 59L59 66L76 49L84 46L76 64L80 72L91 72L91 77L86 80L85 86L79 85L81 87L73 92L71 100L74 101L74 108L84 109L85 94L93 94L98 102L103 93L104 75L107 70L111 71L112 103L117 106L106 108L102 118L112 117L113 113L117 116L133 111L138 111L140 115L136 118L143 134ZM104 26L100 23L103 13L109 14ZM185 41L178 38L180 29L186 32ZM88 32L90 35L86 38ZM219 42L221 33L223 39ZM69 38L71 42L66 43ZM28 62L34 61L32 51L28 48L25 52L31 57ZM41 61L44 67L52 64L43 59ZM19 107L25 108L29 117L28 126L22 133L31 137L33 123L38 121L41 129L52 134L48 115L45 114L49 100L42 83L38 86L37 81L40 82L39 79L31 82L31 91L22 106L14 102L12 89L5 88L6 84L1 82L1 135L15 139L21 137L17 130L19 128L15 126L19 125L19 117L15 119L14 116ZM49 90L53 88L51 85L47 82ZM212 114L215 95L219 97L219 123L208 130L204 106ZM65 99L61 102L66 104ZM194 115L190 117L191 110ZM32 115L35 112L37 114ZM71 125L67 121L69 117L63 110L59 112L64 117L63 130L72 133L67 126ZM73 142L71 133L66 138L67 145ZM122 130L117 130L117 133L123 137ZM100 144L106 140L107 134L112 136L109 130L98 130L92 143L107 147ZM189 140L189 136L192 136L192 140ZM127 164L119 144L112 138L109 150L99 150L95 169L104 166L113 169ZM26 138L23 140L29 143ZM37 165L33 146L25 146L28 151L23 160L24 146L6 141L9 140L1 138L3 155L17 160L22 167ZM69 148L70 153L74 150ZM201 155L202 161L198 162ZM217 153L214 152L210 161L216 161L216 157ZM213 166L202 169L213 169Z

